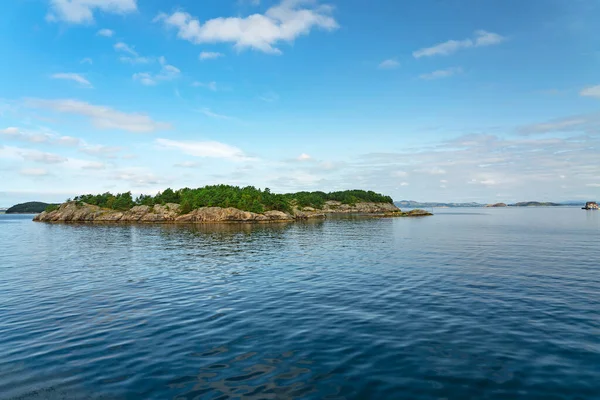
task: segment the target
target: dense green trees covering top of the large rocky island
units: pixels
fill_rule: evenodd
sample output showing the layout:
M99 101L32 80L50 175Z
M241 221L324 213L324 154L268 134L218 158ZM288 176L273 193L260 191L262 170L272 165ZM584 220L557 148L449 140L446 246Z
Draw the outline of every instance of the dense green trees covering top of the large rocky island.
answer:
M294 206L320 209L326 201L339 201L342 204L349 205L360 202L393 203L390 196L365 190L276 194L268 188L261 190L254 186L238 187L230 185L213 185L197 189L183 188L179 190L169 188L155 196L142 194L136 198L133 198L131 192L86 194L75 197L73 201L118 211L127 211L134 206L152 207L157 204L176 203L180 205L182 214L187 214L202 207L233 207L242 211L264 213L271 210L291 212ZM50 205L46 208L46 211L54 211L57 208L56 205Z

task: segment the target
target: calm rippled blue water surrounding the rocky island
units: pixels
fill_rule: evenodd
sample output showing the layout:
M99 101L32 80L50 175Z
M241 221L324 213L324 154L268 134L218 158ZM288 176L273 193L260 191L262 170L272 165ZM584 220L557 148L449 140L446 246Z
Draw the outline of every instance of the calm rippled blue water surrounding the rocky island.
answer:
M599 399L600 212L0 216L2 399Z

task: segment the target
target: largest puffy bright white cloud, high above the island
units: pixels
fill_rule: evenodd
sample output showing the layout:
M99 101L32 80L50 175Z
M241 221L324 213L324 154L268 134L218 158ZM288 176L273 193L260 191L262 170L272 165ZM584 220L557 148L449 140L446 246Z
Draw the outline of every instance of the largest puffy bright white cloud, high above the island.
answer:
M266 13L246 18L215 18L201 23L183 11L171 15L161 13L154 20L177 29L177 36L194 44L234 43L238 50L251 48L270 54L281 54L275 45L293 42L301 35L308 35L313 28L335 30L339 26L331 17L333 8L320 5L301 8L303 0L283 0L269 8Z

